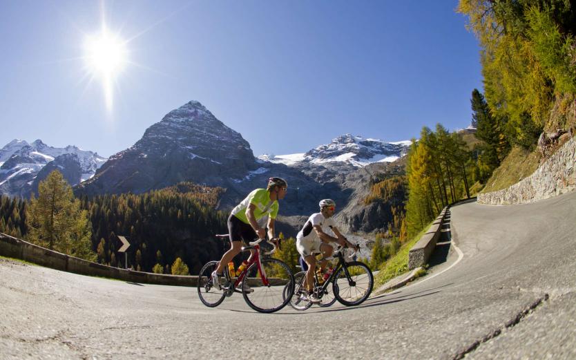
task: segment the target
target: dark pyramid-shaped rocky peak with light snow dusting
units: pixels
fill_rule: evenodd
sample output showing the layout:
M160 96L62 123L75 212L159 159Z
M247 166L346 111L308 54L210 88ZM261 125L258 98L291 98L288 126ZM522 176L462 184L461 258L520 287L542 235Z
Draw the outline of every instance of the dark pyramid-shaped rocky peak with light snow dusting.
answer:
M134 146L111 156L84 193L143 193L181 181L223 186L258 169L250 145L200 102L189 102L153 124Z

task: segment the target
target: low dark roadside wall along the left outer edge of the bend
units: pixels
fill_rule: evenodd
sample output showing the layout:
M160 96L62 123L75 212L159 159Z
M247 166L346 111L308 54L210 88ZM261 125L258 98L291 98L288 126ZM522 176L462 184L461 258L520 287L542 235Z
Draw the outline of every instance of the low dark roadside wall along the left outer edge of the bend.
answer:
M128 269L119 269L118 267L93 263L92 261L61 254L1 233L0 255L26 260L29 263L50 267L64 272L115 278L131 283L176 286L196 286L198 283L198 276L153 274L150 272L135 272Z

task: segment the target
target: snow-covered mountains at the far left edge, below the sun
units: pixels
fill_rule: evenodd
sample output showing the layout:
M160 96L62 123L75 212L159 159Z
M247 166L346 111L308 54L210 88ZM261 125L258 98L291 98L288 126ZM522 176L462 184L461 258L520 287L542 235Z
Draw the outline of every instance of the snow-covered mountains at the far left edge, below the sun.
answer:
M58 169L71 185L88 180L106 158L77 146L57 148L36 140L12 140L0 149L0 193L28 197L38 182L44 180L46 169ZM48 167L47 167L48 165Z

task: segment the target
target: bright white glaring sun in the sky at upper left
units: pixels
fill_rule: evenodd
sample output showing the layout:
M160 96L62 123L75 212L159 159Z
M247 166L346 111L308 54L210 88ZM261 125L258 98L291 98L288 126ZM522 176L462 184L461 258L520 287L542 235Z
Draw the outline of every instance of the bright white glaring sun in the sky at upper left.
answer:
M108 110L112 109L113 85L128 63L127 54L126 42L106 27L99 34L87 35L84 39L86 66L93 77L102 80Z

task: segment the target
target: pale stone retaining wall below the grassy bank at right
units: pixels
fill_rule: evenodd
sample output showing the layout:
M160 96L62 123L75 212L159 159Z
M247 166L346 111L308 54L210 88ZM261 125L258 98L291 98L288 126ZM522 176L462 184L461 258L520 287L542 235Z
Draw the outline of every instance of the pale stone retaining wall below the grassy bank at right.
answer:
M525 204L576 189L576 138L571 138L534 172L507 189L479 193L487 205Z

